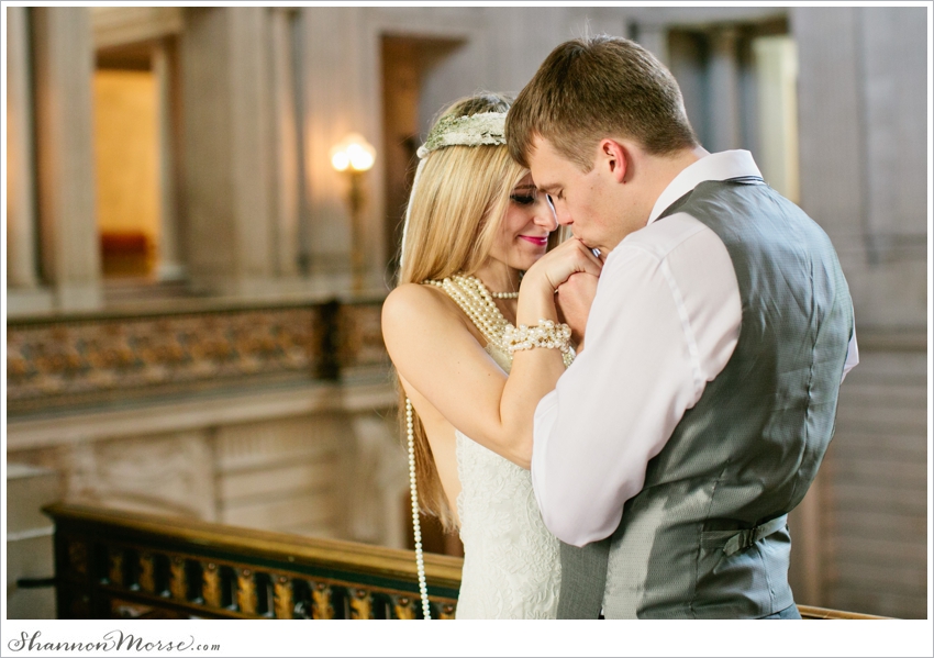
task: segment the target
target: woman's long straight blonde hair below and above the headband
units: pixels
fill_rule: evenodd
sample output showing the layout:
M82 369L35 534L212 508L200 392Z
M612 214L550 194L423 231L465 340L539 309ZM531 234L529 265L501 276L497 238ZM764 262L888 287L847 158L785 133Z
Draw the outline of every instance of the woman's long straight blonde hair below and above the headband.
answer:
M505 112L511 99L482 93L462 99L445 116ZM425 156L419 181L409 199L409 227L402 244L399 282L422 283L457 272L474 274L489 258L497 232L509 209L512 190L529 170L503 146L446 146ZM405 391L399 389L403 436L407 433ZM451 503L441 486L424 426L413 410L415 479L422 512L456 527Z

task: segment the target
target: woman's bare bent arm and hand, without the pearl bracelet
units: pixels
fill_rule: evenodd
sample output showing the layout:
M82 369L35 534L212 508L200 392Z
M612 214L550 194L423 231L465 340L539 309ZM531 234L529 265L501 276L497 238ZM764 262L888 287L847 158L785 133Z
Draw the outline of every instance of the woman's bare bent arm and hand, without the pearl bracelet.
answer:
M557 319L553 280L560 283L572 271L599 274L599 261L592 255L587 260L589 254L582 249L575 253L563 245L552 254L542 259L548 259L542 268L536 264L523 279L520 324ZM444 292L429 286L400 286L382 308L383 339L402 379L454 427L529 468L535 406L565 370L561 353L516 352L507 377L470 326Z

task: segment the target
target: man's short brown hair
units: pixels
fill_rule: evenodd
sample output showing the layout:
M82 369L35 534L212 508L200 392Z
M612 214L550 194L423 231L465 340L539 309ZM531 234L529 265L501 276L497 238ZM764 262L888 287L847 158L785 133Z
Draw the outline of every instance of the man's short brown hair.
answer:
M585 171L603 137L633 138L654 155L698 144L674 76L635 42L608 35L552 51L510 109L505 134L524 167L540 136Z

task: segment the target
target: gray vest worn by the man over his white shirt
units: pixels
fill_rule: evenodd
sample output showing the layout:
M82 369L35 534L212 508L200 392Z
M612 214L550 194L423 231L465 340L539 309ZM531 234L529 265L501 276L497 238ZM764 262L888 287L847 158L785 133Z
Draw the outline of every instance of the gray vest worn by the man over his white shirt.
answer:
M613 535L563 545L560 617L593 618L601 602L608 618L761 617L793 604L786 514L833 436L849 290L826 234L758 178L702 182L658 221L676 212L726 245L740 339Z

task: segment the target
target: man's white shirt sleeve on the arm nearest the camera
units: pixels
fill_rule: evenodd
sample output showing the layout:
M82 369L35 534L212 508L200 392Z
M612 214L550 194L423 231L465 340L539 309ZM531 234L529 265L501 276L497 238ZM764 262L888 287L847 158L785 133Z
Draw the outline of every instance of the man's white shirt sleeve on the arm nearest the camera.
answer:
M723 243L689 215L661 224L610 255L586 349L535 412L535 497L545 525L575 546L615 531L648 461L736 346L740 292Z

